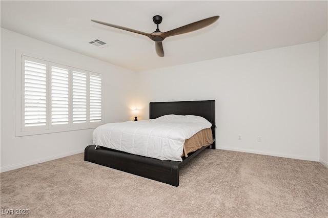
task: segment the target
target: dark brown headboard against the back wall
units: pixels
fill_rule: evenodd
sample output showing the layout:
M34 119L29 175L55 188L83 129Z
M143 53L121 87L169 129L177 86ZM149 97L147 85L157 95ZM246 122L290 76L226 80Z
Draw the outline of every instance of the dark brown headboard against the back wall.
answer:
M168 114L196 115L207 119L212 123L211 128L214 141L212 148L215 149L215 100L149 103L149 119L155 119Z

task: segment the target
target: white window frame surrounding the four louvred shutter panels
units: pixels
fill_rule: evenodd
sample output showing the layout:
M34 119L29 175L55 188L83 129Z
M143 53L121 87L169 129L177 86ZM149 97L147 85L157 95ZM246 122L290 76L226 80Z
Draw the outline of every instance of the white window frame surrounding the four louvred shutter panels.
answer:
M25 102L24 102L24 61L25 60L42 62L47 64L47 110L46 110L46 126L29 126L25 127ZM16 72L15 72L15 137L30 136L39 134L49 134L58 132L67 132L71 130L82 130L95 128L101 124L104 124L105 110L104 110L104 74L95 73L88 70L82 70L80 68L69 66L69 64L60 63L59 61L52 60L50 58L40 57L35 54L22 52L16 50ZM70 64L71 65L71 64ZM69 123L68 124L52 124L51 123L51 67L64 68L69 71ZM72 76L73 70L87 74L87 121L85 123L73 123L72 122ZM90 75L99 76L101 78L101 120L98 122L90 122Z

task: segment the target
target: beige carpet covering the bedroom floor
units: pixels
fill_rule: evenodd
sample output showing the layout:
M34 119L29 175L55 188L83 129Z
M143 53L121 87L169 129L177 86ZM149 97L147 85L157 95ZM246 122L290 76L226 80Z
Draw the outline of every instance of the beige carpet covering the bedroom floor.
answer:
M1 173L2 217L328 217L318 162L206 149L174 187L83 158Z

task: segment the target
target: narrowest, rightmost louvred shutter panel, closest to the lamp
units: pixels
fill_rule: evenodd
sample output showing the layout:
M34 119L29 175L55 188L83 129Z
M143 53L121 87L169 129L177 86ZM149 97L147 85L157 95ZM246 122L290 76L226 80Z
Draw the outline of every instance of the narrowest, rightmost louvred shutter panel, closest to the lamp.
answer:
M101 121L101 77L90 74L90 122Z

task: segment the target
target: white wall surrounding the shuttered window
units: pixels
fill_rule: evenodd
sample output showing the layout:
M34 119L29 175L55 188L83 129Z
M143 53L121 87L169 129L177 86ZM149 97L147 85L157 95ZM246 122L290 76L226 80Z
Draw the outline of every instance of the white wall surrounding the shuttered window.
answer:
M103 73L105 121L132 119L130 113L131 107L135 106L135 72L1 29L1 171L77 154L92 143L93 129L15 137L16 50Z

